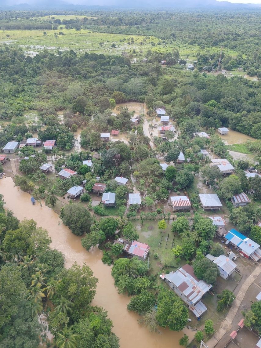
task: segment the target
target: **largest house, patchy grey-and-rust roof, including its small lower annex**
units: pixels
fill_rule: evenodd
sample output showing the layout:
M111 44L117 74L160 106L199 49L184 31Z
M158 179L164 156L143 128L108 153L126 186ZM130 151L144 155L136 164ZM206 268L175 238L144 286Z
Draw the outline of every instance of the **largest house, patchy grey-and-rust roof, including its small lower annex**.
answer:
M204 280L199 280L193 268L187 263L184 266L163 275L165 282L174 292L188 304L189 309L200 317L207 307L200 301L203 296L212 288Z

